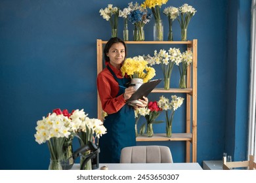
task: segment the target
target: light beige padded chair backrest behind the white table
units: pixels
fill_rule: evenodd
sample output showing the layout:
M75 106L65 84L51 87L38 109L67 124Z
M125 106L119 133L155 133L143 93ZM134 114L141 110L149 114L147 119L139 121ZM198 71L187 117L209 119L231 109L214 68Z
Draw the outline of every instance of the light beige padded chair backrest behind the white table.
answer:
M167 146L130 146L121 150L120 163L173 163Z

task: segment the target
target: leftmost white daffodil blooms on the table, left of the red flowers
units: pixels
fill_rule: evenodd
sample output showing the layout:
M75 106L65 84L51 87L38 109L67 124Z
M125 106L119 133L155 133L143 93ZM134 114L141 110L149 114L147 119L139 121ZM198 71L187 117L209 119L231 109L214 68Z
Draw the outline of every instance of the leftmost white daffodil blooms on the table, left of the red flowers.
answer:
M72 124L69 118L63 114L57 115L55 113L49 114L43 120L37 121L37 130L35 133L35 141L42 144L49 141L52 137L66 137L68 138L72 131Z

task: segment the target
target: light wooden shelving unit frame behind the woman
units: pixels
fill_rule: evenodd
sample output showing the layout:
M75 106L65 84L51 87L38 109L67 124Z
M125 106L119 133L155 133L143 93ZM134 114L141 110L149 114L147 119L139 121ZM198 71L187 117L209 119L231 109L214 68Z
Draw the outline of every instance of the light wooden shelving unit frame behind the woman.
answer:
M97 74L103 69L102 46L107 41L97 39ZM167 138L165 133L155 133L153 137L139 135L137 141L186 141L186 162L197 161L197 73L198 73L198 40L192 41L125 41L125 44L183 44L187 50L193 52L193 62L187 71L187 88L171 88L164 90L156 88L152 93L186 93L186 133L173 133L171 138ZM98 97L98 119L102 118L102 108Z

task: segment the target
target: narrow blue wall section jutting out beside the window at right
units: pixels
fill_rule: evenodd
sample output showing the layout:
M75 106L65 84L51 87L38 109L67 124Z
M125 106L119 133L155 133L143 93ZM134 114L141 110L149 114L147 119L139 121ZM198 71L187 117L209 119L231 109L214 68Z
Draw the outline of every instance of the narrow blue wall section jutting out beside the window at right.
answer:
M234 159L246 159L251 1L230 1L229 5L225 151Z

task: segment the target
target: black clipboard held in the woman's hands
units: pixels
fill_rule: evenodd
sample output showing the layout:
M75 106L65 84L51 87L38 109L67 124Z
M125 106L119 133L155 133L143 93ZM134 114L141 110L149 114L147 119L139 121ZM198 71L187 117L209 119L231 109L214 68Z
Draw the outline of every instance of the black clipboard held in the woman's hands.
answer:
M136 90L133 95L129 99L127 99L126 103L129 103L131 101L135 101L137 99L142 99L142 97L147 97L154 88L161 82L161 79L157 80L150 80L148 82L143 83L138 90Z

